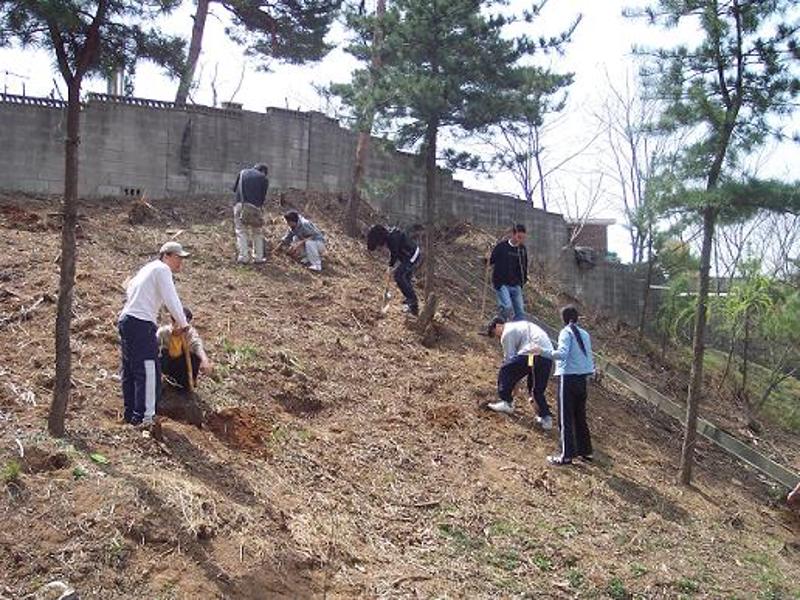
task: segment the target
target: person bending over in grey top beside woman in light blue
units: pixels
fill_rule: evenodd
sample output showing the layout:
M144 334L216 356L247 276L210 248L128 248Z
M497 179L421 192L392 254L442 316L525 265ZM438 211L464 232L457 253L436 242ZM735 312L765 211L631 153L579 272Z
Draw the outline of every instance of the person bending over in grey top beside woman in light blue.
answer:
M529 321L506 323L502 317L489 322L489 337L500 338L503 347L503 364L497 374L497 395L500 400L487 405L495 412L512 414L514 412L514 387L523 377L528 378L528 400L536 403L536 422L542 429L553 428L553 414L547 405L545 390L550 379L553 361L544 356L534 357L534 347L553 351L550 338L541 327Z

